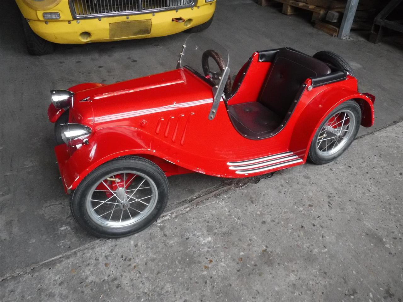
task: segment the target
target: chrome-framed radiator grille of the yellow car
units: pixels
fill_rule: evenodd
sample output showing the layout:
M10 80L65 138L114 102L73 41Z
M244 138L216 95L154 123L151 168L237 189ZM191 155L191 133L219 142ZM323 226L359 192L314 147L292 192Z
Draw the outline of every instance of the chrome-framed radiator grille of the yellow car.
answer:
M80 1L81 2L81 9L79 8L79 12L77 14L76 10L75 10L75 6L74 6L74 1ZM84 3L83 3L84 1ZM106 0L107 4L109 6L109 0ZM189 4L179 4L179 5L172 5L172 6L167 6L167 7L162 7L162 8L151 8L151 9L143 9L143 4L141 2L144 1L148 1L147 4L148 6L150 6L150 0L131 0L133 3L132 5L130 5L130 1L129 0L114 0L114 1L120 1L122 4L120 4L120 2L118 2L118 4L116 4L116 2L114 2L115 4L113 4L113 2L111 1L111 8L113 9L113 7L116 9L116 7L118 9L120 9L120 7L122 6L123 8L123 1L127 1L129 2L129 5L126 5L129 7L129 10L126 11L119 11L119 12L104 12L104 13L100 13L100 10L102 11L102 8L100 9L98 6L98 2L96 2L96 5L94 4L93 8L89 8L89 11L93 11L93 14L84 14L84 4L85 6L87 6L87 2L85 0L69 0L69 6L70 6L70 11L71 11L71 15L73 16L73 19L91 19L91 18L99 18L99 17L115 17L115 16L130 16L130 15L135 15L135 14L147 14L147 13L151 13L151 12L162 12L162 11L167 11L167 10L177 10L177 9L182 9L182 8L189 8L189 7L194 7L196 5L196 0L192 0ZM156 3L154 0L151 0L154 4ZM105 2L105 0L103 0L103 2ZM102 4L102 2L100 2ZM126 3L126 2L125 2ZM130 10L130 8L132 8ZM88 8L86 7L86 10L88 11ZM108 9L109 10L109 9ZM82 13L80 15L80 13Z

